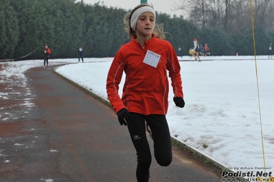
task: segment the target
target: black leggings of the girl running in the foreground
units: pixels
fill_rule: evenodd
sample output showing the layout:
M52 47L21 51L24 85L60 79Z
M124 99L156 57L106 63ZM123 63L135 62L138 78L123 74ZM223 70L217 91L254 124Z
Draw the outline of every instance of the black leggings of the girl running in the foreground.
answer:
M165 115L150 114L144 116L133 112L130 112L130 115L133 122L128 122L128 131L137 151L137 181L148 182L151 153L146 138L145 121L152 131L155 159L160 166L169 166L172 161L172 144L168 122Z

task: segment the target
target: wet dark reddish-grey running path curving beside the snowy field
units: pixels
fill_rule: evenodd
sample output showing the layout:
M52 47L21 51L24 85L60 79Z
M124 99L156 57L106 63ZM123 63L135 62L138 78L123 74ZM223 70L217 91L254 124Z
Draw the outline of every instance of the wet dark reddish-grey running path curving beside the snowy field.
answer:
M136 152L113 109L53 68L28 70L25 75L34 106L27 112L12 107L14 120L0 120L0 181L137 181ZM0 107L3 104L11 103L0 103ZM220 181L220 170L173 146L170 166L161 167L152 157L150 181L215 182Z

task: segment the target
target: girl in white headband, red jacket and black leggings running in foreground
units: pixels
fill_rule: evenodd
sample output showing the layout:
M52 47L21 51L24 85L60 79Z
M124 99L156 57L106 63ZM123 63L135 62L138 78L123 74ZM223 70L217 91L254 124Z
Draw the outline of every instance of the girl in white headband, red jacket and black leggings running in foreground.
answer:
M172 162L172 143L165 115L170 77L174 103L184 107L181 67L176 51L165 38L163 25L155 25L152 6L142 3L124 17L130 42L117 51L106 79L106 92L120 125L126 125L137 151L137 181L150 177L151 153L146 125L152 132L155 158L161 166ZM168 71L167 71L168 70ZM125 73L122 98L119 83Z

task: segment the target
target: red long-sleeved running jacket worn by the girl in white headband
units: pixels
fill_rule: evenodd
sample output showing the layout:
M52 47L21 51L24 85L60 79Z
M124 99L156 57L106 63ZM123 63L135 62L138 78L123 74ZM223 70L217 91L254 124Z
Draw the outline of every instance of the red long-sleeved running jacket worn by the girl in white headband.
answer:
M161 55L157 68L143 62L150 50ZM168 70L168 71L167 71ZM168 112L168 76L174 96L183 97L181 67L170 42L155 38L147 40L144 48L134 38L117 51L106 79L106 92L115 112L126 108L139 114L161 114ZM123 72L126 79L122 99L119 83Z

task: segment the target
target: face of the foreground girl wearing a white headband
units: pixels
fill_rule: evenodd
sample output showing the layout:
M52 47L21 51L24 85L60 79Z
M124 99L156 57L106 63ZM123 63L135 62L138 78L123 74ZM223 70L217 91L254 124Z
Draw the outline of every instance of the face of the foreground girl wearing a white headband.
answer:
M141 14L136 23L136 34L138 36L148 37L152 35L155 27L155 17L151 12Z

